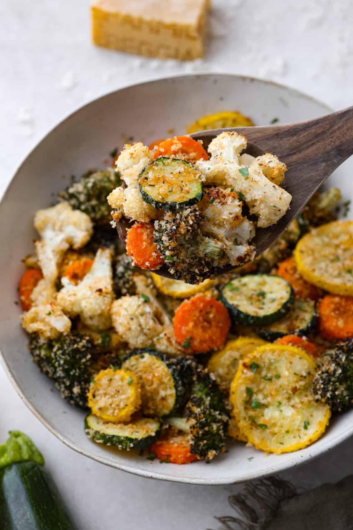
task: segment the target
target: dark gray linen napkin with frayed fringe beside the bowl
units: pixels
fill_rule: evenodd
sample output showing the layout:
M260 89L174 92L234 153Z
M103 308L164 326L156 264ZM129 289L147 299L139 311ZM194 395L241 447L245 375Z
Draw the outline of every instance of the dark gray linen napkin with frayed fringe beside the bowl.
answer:
M353 530L353 475L298 494L277 476L250 482L229 497L237 515L216 517L219 530Z

